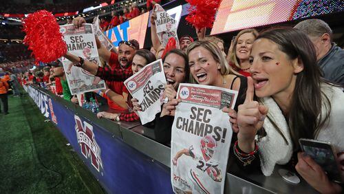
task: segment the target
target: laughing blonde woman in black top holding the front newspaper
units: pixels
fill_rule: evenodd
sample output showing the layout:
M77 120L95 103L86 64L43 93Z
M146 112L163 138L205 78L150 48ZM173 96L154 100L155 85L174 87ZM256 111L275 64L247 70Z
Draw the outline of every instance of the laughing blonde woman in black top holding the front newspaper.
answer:
M189 45L186 50L189 56L189 65L191 72L191 83L202 85L212 85L224 87L239 91L235 110L244 103L247 88L247 79L239 76L237 72L228 65L226 58L215 43L209 41L195 41ZM169 100L169 103L162 110L162 114L172 115L175 113L175 106L178 105L177 99ZM230 117L236 116L236 111L224 108L222 111ZM234 120L233 120L234 119ZM232 129L237 132L237 122L235 118L230 118L233 123Z

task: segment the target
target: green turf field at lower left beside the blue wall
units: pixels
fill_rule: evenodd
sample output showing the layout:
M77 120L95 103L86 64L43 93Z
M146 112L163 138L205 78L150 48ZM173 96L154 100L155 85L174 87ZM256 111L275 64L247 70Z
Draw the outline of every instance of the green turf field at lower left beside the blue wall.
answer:
M0 114L0 193L105 193L28 94L8 104L10 114Z

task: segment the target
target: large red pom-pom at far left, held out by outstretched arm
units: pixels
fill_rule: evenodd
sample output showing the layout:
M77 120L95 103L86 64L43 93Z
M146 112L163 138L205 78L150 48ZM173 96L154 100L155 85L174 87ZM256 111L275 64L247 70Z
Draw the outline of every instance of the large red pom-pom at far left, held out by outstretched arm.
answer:
M51 12L39 10L23 20L26 33L23 43L32 50L35 63L50 63L67 52L67 45L60 33L60 26Z

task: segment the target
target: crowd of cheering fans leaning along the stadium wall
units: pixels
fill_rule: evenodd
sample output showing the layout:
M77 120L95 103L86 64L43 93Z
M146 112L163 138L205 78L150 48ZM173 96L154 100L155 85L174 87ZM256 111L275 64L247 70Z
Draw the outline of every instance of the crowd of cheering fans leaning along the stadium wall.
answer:
M120 18L125 21L138 14L140 11L133 4L123 14L113 12L111 21L103 19L101 26L107 30L118 25ZM79 28L85 22L77 17L72 23ZM153 41L157 40L154 14L151 24ZM160 54L165 49L161 43L153 41L151 52L139 49L138 41L130 40L120 42L116 52L97 45L98 54L105 61L103 67L70 53L65 57L106 81L107 89L92 94L105 98L109 105L109 111L99 112L98 118L128 122L140 120L137 112L142 107L123 82L144 65L162 58L167 82L162 99L166 101L150 127L156 140L168 146L180 83L238 91L235 108L222 111L230 117L234 132L230 157L239 168L271 175L275 164L285 164L317 191L341 193L341 186L329 180L321 166L300 153L298 142L299 138L331 142L343 162L344 51L332 42L330 26L320 19L308 19L293 28L241 30L230 43L227 54L224 41L204 36L202 32L204 29L197 30L198 41L180 34L180 49L169 50L164 56ZM19 74L19 83L51 85L56 94L78 103L78 98L70 94L59 62ZM341 168L343 173L344 166Z

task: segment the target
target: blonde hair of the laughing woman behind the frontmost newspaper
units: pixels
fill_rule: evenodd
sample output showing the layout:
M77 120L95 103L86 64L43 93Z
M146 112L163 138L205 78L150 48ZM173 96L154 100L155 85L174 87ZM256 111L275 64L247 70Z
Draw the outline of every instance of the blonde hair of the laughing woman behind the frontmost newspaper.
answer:
M211 41L195 41L186 48L186 55L189 56L191 50L195 49L196 47L204 47L206 50L211 52L211 55L213 56L214 60L220 64L219 72L222 76L228 74L235 74L233 69L228 65L228 62L222 54L222 51L215 43ZM190 75L190 80L191 83L197 83L192 75Z

